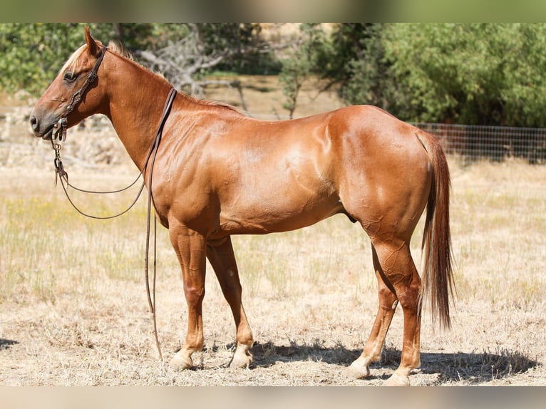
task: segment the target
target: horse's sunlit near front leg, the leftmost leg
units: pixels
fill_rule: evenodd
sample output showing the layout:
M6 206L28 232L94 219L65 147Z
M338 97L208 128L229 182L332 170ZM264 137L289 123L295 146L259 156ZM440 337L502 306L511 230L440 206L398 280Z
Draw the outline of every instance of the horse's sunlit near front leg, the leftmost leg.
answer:
M187 335L180 351L170 360L176 370L192 367L192 353L203 348L202 301L205 296L205 238L180 225L171 224L170 241L182 268L184 295L187 303Z

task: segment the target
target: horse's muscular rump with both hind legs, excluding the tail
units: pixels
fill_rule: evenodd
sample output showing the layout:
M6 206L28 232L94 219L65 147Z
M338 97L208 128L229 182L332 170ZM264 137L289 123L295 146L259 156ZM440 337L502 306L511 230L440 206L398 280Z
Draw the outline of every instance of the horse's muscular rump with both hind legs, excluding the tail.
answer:
M435 165L416 137L416 128L390 116L376 119L384 120L385 130L373 125L366 133L350 135L346 145L353 149L341 150L347 166L340 177L340 197L349 215L371 238L379 298L374 327L347 373L354 377L369 373L369 363L381 357L386 332L400 304L404 316L401 362L386 384L408 385L409 373L421 364L421 278L411 257L410 241L431 195Z

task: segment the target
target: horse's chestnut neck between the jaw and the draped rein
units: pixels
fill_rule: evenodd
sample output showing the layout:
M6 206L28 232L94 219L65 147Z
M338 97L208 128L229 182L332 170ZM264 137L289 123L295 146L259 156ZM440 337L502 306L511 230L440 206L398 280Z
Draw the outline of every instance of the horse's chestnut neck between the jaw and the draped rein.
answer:
M123 61L108 78L106 115L129 156L142 169L172 86L133 61Z

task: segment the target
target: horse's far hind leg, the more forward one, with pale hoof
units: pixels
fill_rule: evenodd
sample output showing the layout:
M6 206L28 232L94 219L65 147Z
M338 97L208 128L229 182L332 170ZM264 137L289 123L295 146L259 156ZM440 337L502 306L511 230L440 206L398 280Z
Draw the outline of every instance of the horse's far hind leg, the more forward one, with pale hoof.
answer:
M391 326L391 321L396 311L396 306L398 305L398 298L393 292L391 284L386 281L374 245L371 246L371 251L377 277L379 306L374 326L371 329L368 340L364 344L364 350L362 351L361 356L351 363L351 366L345 368L344 371L345 376L355 379L369 376L370 363L381 360L383 343L385 343L388 328Z

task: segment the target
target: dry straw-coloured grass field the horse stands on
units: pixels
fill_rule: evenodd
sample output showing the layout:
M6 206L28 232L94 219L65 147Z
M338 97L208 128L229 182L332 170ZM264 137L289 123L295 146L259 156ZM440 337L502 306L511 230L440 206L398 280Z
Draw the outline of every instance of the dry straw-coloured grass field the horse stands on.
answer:
M220 99L231 102L229 95ZM332 104L311 100L317 110ZM65 165L74 185L104 190L135 177L111 131L89 126L69 131L68 140ZM89 140L113 144L110 159L88 160L96 146ZM295 232L234 237L256 340L254 363L226 368L235 327L208 269L205 348L194 355L195 370L172 371L158 360L145 296L145 200L118 219L86 219L70 207L61 187L53 186L47 143L27 137L7 145L5 135L3 141L0 385L367 386L381 385L398 365L400 308L370 378L341 375L369 334L377 295L369 238L339 215ZM463 167L450 158L450 170L453 329L433 328L425 311L422 368L411 384L546 385L546 167L516 160ZM122 209L134 195L135 190L73 198L104 215ZM422 228L421 221L413 237L416 262ZM186 305L163 228L157 298L159 338L168 360L185 336Z

